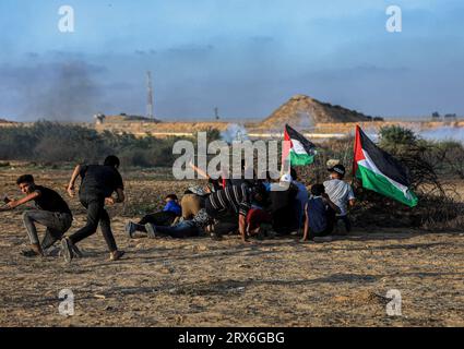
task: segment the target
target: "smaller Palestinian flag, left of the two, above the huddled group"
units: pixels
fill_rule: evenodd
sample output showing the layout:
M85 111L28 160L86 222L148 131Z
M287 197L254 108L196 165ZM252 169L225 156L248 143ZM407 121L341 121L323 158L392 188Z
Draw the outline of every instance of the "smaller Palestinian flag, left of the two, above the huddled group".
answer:
M290 166L310 165L314 160L316 145L305 139L300 133L285 124L284 146L282 149L282 163L290 157Z

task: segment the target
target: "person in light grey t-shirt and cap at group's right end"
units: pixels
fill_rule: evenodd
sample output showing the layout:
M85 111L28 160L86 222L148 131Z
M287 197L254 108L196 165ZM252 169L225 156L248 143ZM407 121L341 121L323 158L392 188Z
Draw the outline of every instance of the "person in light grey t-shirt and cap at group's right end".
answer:
M338 206L340 213L336 214L336 221L343 221L346 232L352 230L352 222L348 218L348 208L355 205L355 194L353 188L343 180L345 177L345 167L341 164L328 169L330 180L324 182L325 192L335 205Z

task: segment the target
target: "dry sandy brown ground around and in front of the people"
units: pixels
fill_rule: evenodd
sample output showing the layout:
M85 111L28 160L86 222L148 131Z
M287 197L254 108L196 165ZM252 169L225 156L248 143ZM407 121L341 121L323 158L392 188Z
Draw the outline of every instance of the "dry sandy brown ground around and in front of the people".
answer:
M29 172L60 192L69 174ZM0 193L17 195L17 173L0 171ZM129 204L111 208L127 252L119 262L107 261L99 232L80 244L85 257L70 265L23 257L22 209L1 213L0 326L464 325L463 232L355 229L330 243L289 237L251 245L237 237L129 240L123 224L138 203L185 189L159 176L132 176ZM84 212L69 202L75 230ZM72 316L59 313L62 289L74 293ZM401 292L402 315L386 314L390 289Z

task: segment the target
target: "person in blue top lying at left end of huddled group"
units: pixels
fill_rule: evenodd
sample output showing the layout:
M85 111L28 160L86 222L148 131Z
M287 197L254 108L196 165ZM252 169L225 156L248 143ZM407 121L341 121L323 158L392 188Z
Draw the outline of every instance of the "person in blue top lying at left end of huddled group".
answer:
M126 233L133 238L135 231L146 232L145 225L151 222L155 226L170 226L181 216L182 209L178 203L176 194L169 194L165 197L166 205L160 212L145 215L139 222L129 221L126 225Z

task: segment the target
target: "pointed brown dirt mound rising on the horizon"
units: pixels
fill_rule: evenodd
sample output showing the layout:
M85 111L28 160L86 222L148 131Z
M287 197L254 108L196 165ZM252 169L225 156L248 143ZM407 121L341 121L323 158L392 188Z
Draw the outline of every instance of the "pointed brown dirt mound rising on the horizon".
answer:
M314 98L296 95L276 109L269 118L261 122L261 128L282 128L289 123L299 129L309 129L318 123L361 122L372 118L356 110L332 106Z

